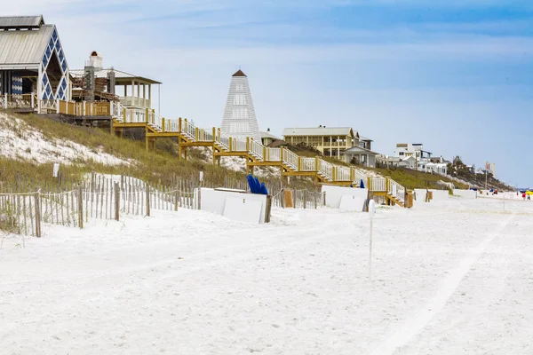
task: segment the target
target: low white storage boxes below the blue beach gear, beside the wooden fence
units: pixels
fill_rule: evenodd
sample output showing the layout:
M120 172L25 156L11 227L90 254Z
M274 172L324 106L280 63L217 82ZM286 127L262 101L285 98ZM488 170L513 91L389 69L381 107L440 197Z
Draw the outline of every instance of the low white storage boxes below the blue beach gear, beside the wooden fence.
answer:
M236 203L240 200L242 204ZM258 203L259 202L259 203ZM267 195L202 188L201 209L230 219L265 223Z

